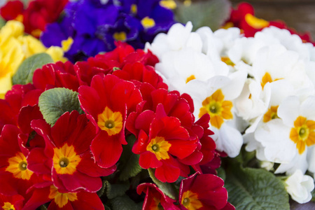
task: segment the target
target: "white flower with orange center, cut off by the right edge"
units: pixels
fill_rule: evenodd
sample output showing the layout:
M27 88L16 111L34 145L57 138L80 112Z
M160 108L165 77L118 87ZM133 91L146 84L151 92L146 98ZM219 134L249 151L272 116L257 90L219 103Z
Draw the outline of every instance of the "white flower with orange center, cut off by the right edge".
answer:
M277 110L279 118L263 123L255 131L255 139L264 148L265 158L281 163L276 173L314 169L314 161L311 161L315 145L314 107L315 96L302 102L297 96L286 97Z

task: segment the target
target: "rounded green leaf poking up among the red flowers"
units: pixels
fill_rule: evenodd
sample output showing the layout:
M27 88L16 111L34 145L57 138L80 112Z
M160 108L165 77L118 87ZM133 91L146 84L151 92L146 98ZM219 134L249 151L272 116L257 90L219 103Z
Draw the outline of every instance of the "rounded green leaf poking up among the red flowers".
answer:
M83 113L78 101L78 92L56 87L46 90L38 99L39 110L48 124L55 125L57 119L66 111L76 110Z

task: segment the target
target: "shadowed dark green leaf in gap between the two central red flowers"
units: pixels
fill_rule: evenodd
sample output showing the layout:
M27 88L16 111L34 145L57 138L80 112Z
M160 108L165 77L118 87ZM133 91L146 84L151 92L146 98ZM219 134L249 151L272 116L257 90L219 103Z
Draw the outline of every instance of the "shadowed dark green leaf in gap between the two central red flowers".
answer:
M123 145L123 153L120 157L120 165L118 165L118 171L120 172L119 179L126 181L130 177L137 176L142 170L139 165L139 156L132 153L132 146L136 141L136 137L131 135L127 138L127 145Z

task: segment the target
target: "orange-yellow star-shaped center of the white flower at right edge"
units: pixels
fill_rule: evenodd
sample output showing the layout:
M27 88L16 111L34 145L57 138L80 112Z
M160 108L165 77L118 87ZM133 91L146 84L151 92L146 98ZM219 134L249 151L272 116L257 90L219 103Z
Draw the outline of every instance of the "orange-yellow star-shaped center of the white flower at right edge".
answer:
M315 121L297 117L290 131L290 139L296 144L300 155L304 153L305 146L315 144Z

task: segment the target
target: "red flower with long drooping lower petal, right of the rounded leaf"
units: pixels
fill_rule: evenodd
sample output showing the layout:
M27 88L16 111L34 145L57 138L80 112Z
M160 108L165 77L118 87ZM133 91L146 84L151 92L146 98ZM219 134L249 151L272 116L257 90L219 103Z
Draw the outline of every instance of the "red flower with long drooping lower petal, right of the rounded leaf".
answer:
M91 151L100 167L116 164L123 151L125 119L142 102L133 83L113 75L94 76L91 87L81 86L79 101L85 113L99 130L92 141Z

